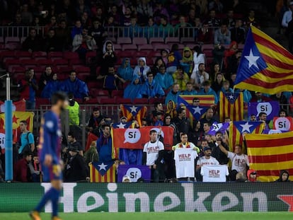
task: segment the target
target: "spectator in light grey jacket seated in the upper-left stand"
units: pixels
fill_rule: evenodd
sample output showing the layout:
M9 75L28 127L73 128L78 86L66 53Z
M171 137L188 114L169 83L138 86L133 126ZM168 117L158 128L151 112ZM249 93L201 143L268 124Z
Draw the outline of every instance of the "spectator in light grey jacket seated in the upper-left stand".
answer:
M79 54L79 58L86 61L86 52L94 50L96 47L96 40L93 37L88 35L88 30L84 28L82 33L79 35L74 35L72 41L73 52Z

